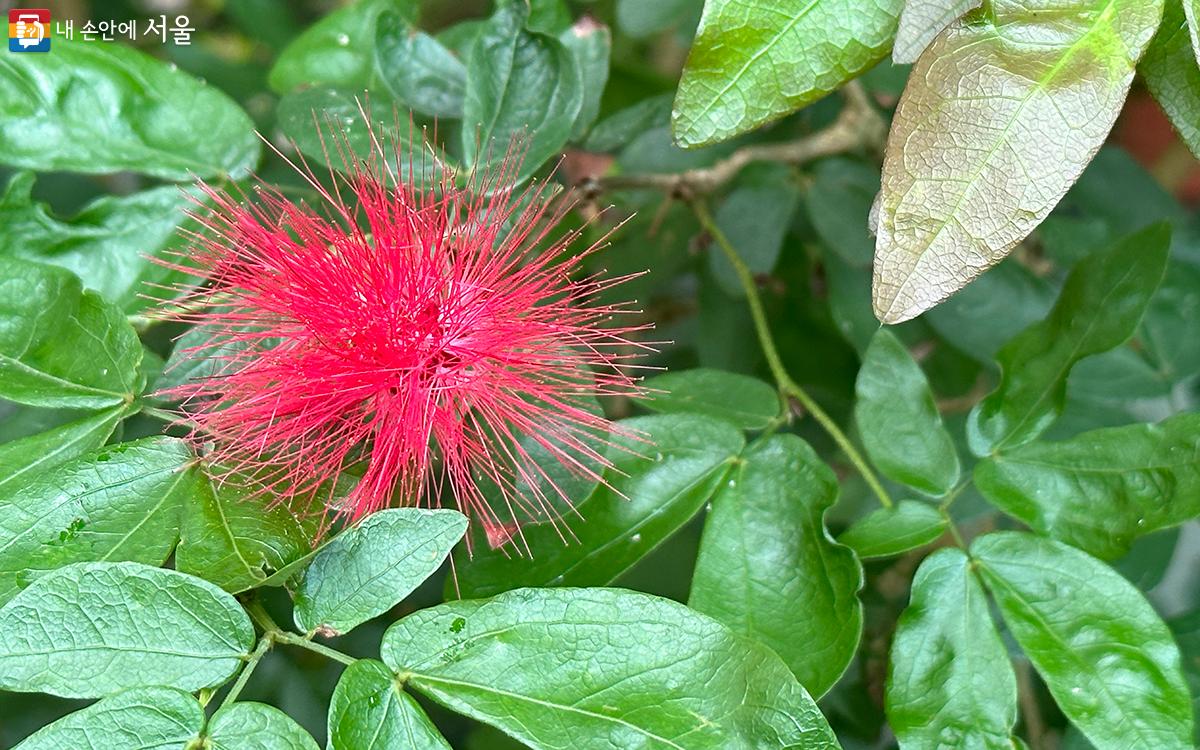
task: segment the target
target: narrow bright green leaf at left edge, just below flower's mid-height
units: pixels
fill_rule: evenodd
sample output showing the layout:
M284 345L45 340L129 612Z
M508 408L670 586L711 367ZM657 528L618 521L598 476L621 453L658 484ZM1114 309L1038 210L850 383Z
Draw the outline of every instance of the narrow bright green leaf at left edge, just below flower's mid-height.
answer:
M113 407L18 440L0 445L0 497L26 474L32 478L100 448L125 413ZM2 515L0 510L0 515Z

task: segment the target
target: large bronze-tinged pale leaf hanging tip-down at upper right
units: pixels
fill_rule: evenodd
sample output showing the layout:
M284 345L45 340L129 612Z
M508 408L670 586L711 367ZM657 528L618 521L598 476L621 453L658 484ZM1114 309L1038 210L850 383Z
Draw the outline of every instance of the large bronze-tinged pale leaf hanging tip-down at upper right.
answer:
M1160 13L1162 0L1068 0L1044 14L996 0L934 40L883 160L880 320L934 307L1046 217L1108 137Z

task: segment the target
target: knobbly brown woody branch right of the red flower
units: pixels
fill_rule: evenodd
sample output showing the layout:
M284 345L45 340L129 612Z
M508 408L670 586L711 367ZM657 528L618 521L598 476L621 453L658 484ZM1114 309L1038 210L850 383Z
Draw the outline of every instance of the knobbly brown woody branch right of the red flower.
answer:
M593 199L614 190L659 190L684 200L708 194L728 182L752 162L803 164L823 156L845 154L863 148L878 150L887 137L887 125L875 110L870 97L858 82L842 89L846 106L828 127L810 136L785 143L762 143L743 146L712 167L665 174L617 174L587 178L578 184L584 199Z

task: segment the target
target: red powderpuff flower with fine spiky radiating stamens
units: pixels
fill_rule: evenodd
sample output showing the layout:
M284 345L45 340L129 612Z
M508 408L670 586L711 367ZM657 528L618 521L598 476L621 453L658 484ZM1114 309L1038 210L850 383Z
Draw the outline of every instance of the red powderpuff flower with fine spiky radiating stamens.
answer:
M205 283L169 310L202 310L173 317L205 330L191 354L217 372L169 392L223 476L283 502L320 492L350 520L442 505L448 485L498 546L569 508L527 445L594 480L610 466L614 426L587 402L638 394L631 359L647 347L613 326L624 306L590 300L628 277L584 276L598 245L569 252L578 232L550 240L570 206L545 184L511 190L514 149L490 175L406 180L397 164L430 160L404 164L372 138L335 187L298 168L320 210L265 185L253 200L204 186L206 230L173 268ZM334 502L323 488L352 466L361 478Z

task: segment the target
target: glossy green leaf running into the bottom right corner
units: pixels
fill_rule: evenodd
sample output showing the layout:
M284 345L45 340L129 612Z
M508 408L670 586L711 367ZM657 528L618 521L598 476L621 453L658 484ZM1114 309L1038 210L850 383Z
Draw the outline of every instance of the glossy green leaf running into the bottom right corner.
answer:
M1009 631L1098 750L1192 748L1180 649L1115 570L1067 545L1001 532L971 554Z

